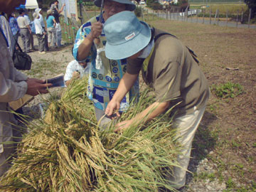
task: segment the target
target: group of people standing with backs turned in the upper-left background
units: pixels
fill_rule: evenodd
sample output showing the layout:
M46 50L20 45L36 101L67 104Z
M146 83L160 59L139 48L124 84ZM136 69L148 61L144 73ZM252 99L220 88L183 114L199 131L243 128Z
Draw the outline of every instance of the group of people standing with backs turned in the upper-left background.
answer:
M53 1L46 11L45 18L43 18L43 10L38 8L32 14L33 20L29 18L26 9L18 9L18 16L15 12L7 14L14 39L18 42L18 37L21 37L25 53L36 50L33 35L38 40L38 53L45 54L50 47L63 46L61 44L60 13L64 6L65 4L58 9L58 1Z

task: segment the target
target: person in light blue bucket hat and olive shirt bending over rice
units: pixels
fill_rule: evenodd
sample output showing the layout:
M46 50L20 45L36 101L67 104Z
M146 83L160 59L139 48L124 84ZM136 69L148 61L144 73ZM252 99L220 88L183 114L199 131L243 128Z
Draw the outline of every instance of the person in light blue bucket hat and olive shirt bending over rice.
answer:
M132 124L144 124L171 110L168 115L183 148L177 156L180 167L172 168L173 174L166 178L172 187L182 188L186 183L192 140L210 96L198 60L176 36L150 28L129 11L111 16L103 30L107 38L107 58L128 58L127 73L119 82L105 114L110 116L117 110L119 116L119 102L142 70L144 81L154 88L156 102L132 119L117 123L114 132L129 129Z

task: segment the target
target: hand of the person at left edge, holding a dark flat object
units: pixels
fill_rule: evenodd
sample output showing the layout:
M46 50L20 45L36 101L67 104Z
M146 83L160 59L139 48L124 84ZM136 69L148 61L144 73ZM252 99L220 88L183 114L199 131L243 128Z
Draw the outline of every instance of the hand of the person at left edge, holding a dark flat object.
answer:
M38 80L35 78L28 78L26 82L28 84L26 94L32 96L36 96L40 93L48 93L48 87L53 85L51 83L45 83L46 80Z

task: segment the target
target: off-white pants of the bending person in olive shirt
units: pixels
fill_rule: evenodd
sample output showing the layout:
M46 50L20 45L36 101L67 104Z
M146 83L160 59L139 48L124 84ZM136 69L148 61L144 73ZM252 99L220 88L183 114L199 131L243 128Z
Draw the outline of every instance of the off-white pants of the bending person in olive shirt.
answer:
M185 186L186 170L188 169L190 160L193 137L196 134L196 129L201 122L205 110L206 106L195 110L191 114L186 114L174 119L174 128L177 129L177 136L179 137L178 142L180 142L183 147L181 154L177 156L178 164L181 167L175 166L173 169L174 175L167 177L170 181L170 185L174 188L178 189Z

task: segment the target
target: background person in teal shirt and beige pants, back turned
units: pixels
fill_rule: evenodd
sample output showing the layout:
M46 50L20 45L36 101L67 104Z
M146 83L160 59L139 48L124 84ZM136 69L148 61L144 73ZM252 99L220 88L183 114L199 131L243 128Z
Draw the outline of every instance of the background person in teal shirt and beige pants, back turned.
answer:
M48 32L48 47L50 48L50 43L53 43L53 47L56 48L56 21L55 18L52 14L52 11L49 9L47 11L47 16L46 16L46 23L47 23L47 32Z

